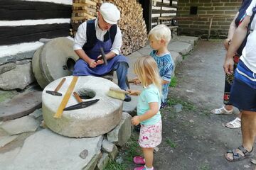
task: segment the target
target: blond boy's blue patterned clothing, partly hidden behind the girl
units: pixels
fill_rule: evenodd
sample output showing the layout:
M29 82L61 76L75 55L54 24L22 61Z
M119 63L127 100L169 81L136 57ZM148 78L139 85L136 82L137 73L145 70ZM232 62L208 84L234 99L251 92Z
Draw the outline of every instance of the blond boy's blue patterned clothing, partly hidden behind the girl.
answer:
M174 72L174 60L171 58L170 52L160 56L156 55L156 52L156 50L153 50L150 52L150 56L156 61L161 79L169 81L168 84L163 84L162 86L161 102L164 103L167 101L171 74Z

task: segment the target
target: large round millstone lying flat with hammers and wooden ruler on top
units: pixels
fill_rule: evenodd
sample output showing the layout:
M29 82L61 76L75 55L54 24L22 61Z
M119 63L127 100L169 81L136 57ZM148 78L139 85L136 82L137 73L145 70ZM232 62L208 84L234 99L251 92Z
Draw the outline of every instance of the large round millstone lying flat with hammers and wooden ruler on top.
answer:
M72 76L65 78L66 81L58 91L63 94L62 96L52 96L46 93L46 90L53 91L62 78L51 82L43 90L43 119L50 130L68 137L95 137L110 132L118 125L122 117L123 101L107 96L110 87L118 88L117 84L107 79L92 76L78 77L73 91L80 96L91 97L82 101L93 99L100 99L100 101L87 108L63 111L61 118L54 118L53 116L73 79ZM77 103L78 101L72 94L66 107Z

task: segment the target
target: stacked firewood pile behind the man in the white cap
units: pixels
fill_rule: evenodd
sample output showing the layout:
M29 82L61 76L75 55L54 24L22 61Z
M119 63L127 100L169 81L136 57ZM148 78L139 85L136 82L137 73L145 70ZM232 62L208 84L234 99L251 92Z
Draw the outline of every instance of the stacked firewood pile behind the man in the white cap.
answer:
M129 55L146 45L146 23L143 18L142 6L136 0L108 0L115 4L121 12L118 26L122 31L122 53ZM97 9L102 1L73 0L72 26L73 32L84 21L96 18Z

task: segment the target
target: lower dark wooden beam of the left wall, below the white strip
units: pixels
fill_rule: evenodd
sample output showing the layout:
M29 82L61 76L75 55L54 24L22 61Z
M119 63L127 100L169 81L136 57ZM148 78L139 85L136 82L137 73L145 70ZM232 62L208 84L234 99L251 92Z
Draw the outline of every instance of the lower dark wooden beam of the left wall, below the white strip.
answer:
M0 45L38 41L40 38L68 36L70 23L43 24L36 26L1 26Z

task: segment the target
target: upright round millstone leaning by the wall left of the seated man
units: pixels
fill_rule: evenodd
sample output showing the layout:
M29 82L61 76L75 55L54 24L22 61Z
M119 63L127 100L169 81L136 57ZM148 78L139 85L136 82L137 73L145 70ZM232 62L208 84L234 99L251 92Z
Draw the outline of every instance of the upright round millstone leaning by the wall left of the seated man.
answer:
M72 75L78 58L73 50L73 40L68 38L50 40L33 56L33 72L38 84L44 88L55 79Z

